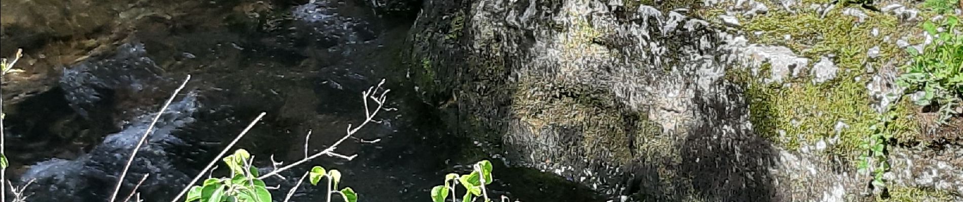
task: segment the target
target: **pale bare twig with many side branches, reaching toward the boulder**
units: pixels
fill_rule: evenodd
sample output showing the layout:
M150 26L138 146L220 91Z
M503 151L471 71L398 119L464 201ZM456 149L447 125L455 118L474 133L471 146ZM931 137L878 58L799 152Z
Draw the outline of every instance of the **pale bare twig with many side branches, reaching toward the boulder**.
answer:
M312 159L318 158L319 156L322 156L322 155L329 155L329 156L341 157L341 158L345 158L345 159L348 159L348 160L351 160L351 159L353 159L355 156L357 156L357 155L345 156L345 155L337 154L337 153L334 153L334 149L336 149L338 146L340 146L341 143L345 142L345 140L348 140L349 138L351 138L351 135L354 135L354 133L356 133L358 130L360 130L361 127L364 127L365 124L371 123L372 120L375 119L375 115L377 114L377 112L381 111L381 109L384 107L385 95L386 95L388 92L390 92L391 90L390 90L390 89L384 90L384 91L381 92L380 94L377 94L377 97L376 97L375 93L377 93L377 89L379 89L382 84L384 84L384 79L381 79L381 82L378 82L378 83L377 83L377 86L375 86L375 87L370 87L370 88L368 88L367 91L361 93L361 98L362 98L361 100L364 101L365 121L362 122L362 123L360 123L360 124L358 124L356 127L351 127L351 124L348 124L348 128L347 128L347 133L348 133L348 134L346 134L345 137L342 137L340 140L338 140L338 142L335 142L333 145L328 146L327 148L325 148L325 150L323 150L323 151L321 151L321 152L315 153L315 154L313 154L313 155L311 155L311 156L308 156L307 158L301 159L301 160L299 160L298 162L292 163L291 165L288 165L288 166L285 166L285 167L282 167L282 168L274 169L273 171L271 171L271 172L269 172L269 173L267 173L267 174L265 174L265 175L261 175L261 176L258 177L257 179L263 180L263 179L268 178L268 177L273 176L273 175L278 175L278 176L280 176L278 173L280 173L281 171L283 171L283 170L285 170L285 169L288 169L288 168L293 168L293 167L298 166L298 165L300 165L300 164L303 164L303 163L305 163L305 162L311 161ZM375 108L374 111L371 111L371 109L369 109L370 106L368 105L368 99L371 99L372 101L375 101L375 102L377 103L377 108Z

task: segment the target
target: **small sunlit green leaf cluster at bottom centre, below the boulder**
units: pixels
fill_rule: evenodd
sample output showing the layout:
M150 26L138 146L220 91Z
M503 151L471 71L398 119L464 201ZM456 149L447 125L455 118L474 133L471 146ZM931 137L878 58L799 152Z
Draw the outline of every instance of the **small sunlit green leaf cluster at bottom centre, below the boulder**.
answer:
M435 186L431 189L431 200L434 202L443 202L448 199L448 193L451 191L453 196L452 202L455 202L455 184L461 184L465 191L465 194L461 197L461 202L475 201L475 199L479 197L481 197L483 201L491 201L487 193L485 193L484 188L485 185L489 185L492 182L491 170L491 162L484 160L476 163L472 172L469 174L459 175L449 173L445 175L445 185Z

